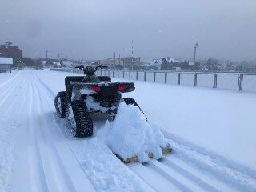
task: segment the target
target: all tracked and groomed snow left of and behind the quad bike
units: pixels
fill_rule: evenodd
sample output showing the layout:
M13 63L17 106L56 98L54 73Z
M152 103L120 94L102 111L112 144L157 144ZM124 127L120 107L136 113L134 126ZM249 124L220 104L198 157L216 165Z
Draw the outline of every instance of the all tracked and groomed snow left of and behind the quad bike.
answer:
M256 191L254 170L168 133L172 154L127 166L96 137L74 138L36 71L16 74L0 90L0 191Z

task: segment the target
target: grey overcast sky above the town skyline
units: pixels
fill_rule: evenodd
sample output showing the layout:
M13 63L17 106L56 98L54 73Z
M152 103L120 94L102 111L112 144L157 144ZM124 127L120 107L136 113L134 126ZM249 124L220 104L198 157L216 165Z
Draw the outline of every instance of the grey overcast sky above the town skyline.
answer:
M256 58L255 0L0 0L0 43L32 58Z

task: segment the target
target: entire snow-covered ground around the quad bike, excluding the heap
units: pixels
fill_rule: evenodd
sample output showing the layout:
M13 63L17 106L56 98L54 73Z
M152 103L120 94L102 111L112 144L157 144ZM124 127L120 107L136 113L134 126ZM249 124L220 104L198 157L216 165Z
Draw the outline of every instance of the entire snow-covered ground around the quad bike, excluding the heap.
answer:
M174 152L126 166L97 135L105 118L94 117L97 136L74 138L55 114L66 75L0 74L0 191L256 190L256 94L135 82L126 96Z

